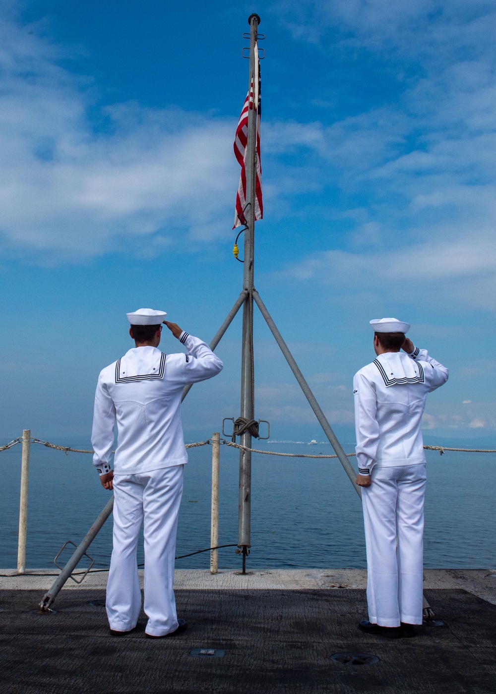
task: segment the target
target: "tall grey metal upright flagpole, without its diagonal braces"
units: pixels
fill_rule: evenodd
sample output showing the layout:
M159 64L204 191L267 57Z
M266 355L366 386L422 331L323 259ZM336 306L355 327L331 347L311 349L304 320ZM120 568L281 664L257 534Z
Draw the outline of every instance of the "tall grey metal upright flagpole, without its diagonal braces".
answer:
M255 82L256 45L260 17L253 14L248 18L250 25L249 42L249 80ZM255 91L255 84L253 84ZM258 85L256 87L258 89ZM243 289L247 291L243 303L242 353L241 353L241 416L247 420L254 418L254 355L253 355L253 278L255 246L255 195L256 195L256 118L258 103L253 95L252 107L248 109L246 178L247 209L245 212L245 255ZM251 448L251 434L246 431L240 437L242 446ZM246 557L251 547L251 452L240 450L240 488L238 505L238 547L242 552L242 573L246 573Z

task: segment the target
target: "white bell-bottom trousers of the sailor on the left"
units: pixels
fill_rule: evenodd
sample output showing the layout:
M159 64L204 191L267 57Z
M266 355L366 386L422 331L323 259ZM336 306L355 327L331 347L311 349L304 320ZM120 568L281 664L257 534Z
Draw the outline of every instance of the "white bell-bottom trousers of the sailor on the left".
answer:
M139 475L114 475L114 546L106 600L110 629L127 632L140 616L136 550L142 523L146 632L164 636L177 629L172 584L182 494L183 465Z

